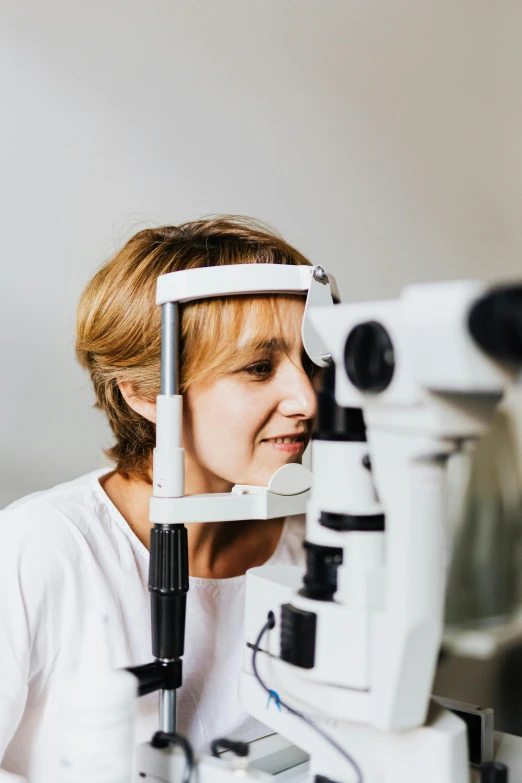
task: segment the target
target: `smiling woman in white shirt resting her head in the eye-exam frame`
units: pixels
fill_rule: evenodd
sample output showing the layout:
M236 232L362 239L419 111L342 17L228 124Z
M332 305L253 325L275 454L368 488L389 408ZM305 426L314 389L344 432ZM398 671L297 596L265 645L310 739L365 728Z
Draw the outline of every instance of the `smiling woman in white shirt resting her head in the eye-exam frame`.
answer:
M113 469L10 506L0 523L0 757L31 783L53 780L57 684L82 617L115 618L118 666L151 659L148 575L151 456L159 393L157 277L221 264L309 262L254 221L223 217L146 229L94 276L80 300L77 356L115 443ZM185 493L266 485L300 461L315 394L301 343L304 299L231 297L185 305L181 323ZM240 707L244 574L301 562L302 517L188 526L190 590L178 730L200 752L216 736L266 729ZM139 701L139 741L158 728ZM0 772L0 781L2 773ZM5 778L9 779L8 777Z

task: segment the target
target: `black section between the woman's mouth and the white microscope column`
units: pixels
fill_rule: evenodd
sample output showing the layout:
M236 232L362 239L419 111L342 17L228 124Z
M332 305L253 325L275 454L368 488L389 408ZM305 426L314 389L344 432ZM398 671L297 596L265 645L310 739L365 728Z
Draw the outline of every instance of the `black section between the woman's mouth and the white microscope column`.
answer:
M335 401L335 364L321 370L312 437L314 440L366 441L362 410L343 408Z

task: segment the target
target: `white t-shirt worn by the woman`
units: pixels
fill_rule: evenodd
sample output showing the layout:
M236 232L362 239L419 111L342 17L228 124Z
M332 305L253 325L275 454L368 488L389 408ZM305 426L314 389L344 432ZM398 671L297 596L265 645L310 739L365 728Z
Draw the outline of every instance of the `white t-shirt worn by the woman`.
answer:
M55 783L57 684L69 671L82 617L109 614L118 667L152 660L149 553L95 471L0 514L0 783L15 773ZM232 522L230 524L233 524ZM288 517L270 564L303 564L304 518ZM245 577L190 577L178 731L196 752L220 736L266 728L237 699ZM158 729L158 695L138 702L137 741Z

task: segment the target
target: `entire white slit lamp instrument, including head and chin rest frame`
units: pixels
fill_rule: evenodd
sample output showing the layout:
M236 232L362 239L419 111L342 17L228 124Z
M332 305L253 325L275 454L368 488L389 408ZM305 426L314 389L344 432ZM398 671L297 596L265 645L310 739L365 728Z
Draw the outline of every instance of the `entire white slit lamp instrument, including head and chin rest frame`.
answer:
M287 465L267 487L185 497L180 305L277 293L306 295L303 344L323 368L312 474ZM519 373L522 286L455 281L409 286L389 301L337 302L320 266L211 267L158 280L154 661L132 671L140 694L160 691L160 730L140 748L139 779L270 779L249 764L242 743L216 738L215 756L195 761L176 733L185 525L306 511L306 569L262 566L247 574L243 706L306 751L310 783L470 780L466 723L431 698L443 632L444 474L448 457L487 429ZM491 748L475 763L484 780L507 780Z

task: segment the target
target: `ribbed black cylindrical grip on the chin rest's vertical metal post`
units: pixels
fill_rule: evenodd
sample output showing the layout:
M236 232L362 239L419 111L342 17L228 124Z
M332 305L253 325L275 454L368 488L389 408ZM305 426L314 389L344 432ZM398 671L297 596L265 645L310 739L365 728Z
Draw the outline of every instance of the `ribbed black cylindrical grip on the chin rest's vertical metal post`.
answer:
M150 535L149 591L152 653L156 658L183 655L187 607L188 541L184 525L154 525Z

